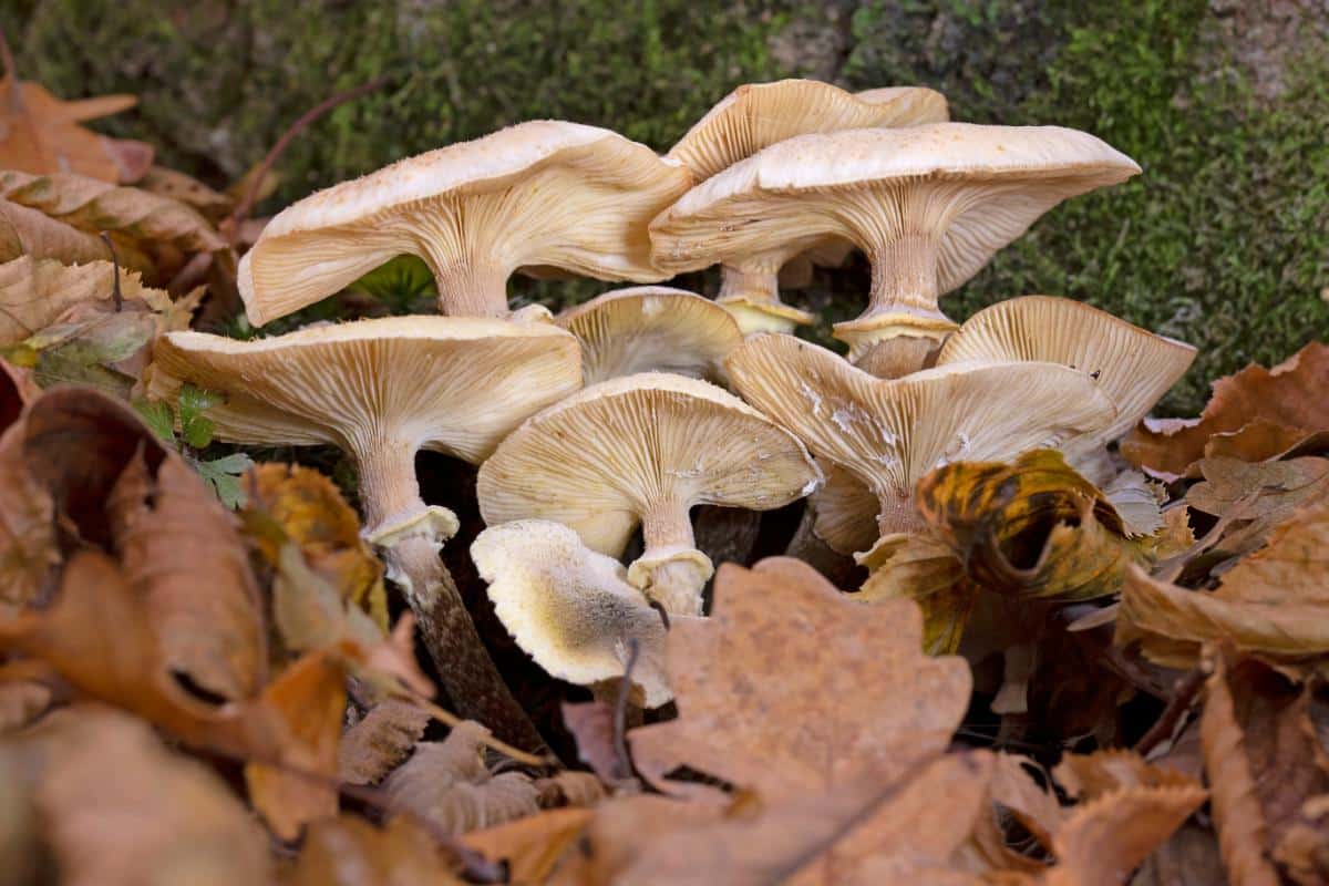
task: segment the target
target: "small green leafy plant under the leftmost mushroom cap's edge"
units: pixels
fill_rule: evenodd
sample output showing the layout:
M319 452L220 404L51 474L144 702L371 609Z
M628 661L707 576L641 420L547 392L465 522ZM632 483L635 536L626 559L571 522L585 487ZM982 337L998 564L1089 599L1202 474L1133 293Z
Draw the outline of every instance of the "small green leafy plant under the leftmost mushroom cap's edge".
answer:
M198 472L222 503L235 509L245 503L241 477L254 465L254 460L242 452L218 458L203 458L201 454L213 445L217 433L217 425L203 413L221 404L221 395L186 384L179 389L174 405L163 400L136 400L133 406L152 432Z

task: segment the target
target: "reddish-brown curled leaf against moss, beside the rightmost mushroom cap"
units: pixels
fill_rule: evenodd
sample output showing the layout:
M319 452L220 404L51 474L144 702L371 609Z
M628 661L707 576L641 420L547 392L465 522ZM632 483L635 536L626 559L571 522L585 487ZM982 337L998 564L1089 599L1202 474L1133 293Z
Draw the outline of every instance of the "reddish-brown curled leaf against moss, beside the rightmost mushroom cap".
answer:
M1326 388L1329 345L1312 341L1273 369L1252 364L1215 381L1196 420L1146 421L1122 441L1122 454L1167 481L1193 477L1195 462L1209 454L1264 461L1329 430Z

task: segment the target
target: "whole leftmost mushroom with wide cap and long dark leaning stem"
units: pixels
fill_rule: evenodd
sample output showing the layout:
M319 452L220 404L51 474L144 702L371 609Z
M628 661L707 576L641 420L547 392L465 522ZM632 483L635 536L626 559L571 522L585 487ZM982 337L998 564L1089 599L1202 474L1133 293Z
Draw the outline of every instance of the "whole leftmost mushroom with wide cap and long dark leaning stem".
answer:
M170 332L154 345L149 393L174 401L183 383L226 397L209 410L221 440L334 445L355 458L364 534L385 549L388 574L416 611L449 696L512 735L524 716L439 559L457 518L421 501L415 456L485 458L522 418L581 385L577 340L550 324L437 316L254 341ZM518 737L537 737L525 728Z

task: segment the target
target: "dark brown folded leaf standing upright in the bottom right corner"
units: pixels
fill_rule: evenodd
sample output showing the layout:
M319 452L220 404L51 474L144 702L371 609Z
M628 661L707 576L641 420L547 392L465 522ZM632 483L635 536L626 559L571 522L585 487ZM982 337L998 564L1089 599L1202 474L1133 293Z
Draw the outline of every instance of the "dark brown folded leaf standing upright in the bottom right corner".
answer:
M1228 879L1271 886L1271 855L1302 805L1329 792L1329 760L1309 716L1309 691L1265 664L1215 651L1200 737Z

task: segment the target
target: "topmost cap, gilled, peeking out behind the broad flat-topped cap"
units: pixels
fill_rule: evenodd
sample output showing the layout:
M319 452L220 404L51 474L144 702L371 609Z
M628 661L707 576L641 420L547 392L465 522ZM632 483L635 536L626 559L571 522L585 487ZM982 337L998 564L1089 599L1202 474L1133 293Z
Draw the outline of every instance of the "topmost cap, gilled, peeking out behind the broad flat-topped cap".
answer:
M819 80L747 84L722 98L670 149L702 182L795 135L946 120L946 98L920 86L849 93Z

